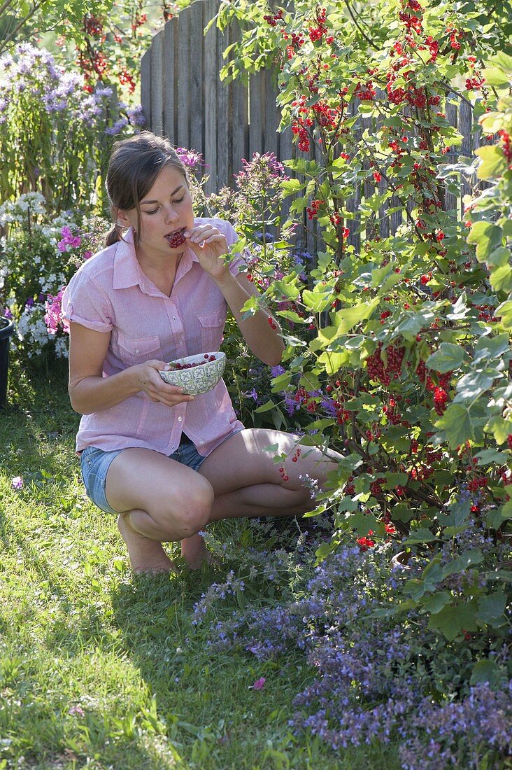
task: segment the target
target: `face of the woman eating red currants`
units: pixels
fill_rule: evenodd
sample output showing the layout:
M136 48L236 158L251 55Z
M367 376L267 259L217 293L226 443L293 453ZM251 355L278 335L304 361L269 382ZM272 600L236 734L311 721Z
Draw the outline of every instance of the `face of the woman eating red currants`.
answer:
M185 241L176 246L179 231L192 229L194 213L192 196L186 179L175 166L164 166L155 183L139 203L140 233L137 239L139 256L169 256L182 254ZM137 209L118 213L122 226L137 230Z

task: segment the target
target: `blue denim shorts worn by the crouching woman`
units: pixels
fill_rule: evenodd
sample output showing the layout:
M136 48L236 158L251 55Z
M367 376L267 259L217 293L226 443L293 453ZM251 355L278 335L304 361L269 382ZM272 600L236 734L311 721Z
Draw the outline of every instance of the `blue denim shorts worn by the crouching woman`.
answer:
M114 457L124 452L123 449L115 449L110 452L105 452L98 447L85 447L80 456L80 464L82 466L82 480L85 486L87 497L92 502L105 511L105 514L118 514L119 511L114 511L109 506L105 495L105 482L107 478L107 472ZM171 460L176 460L178 463L188 465L192 470L199 470L202 462L206 460L206 457L202 457L196 450L194 444L188 436L182 434L182 439L179 442L179 447L176 452L169 454Z

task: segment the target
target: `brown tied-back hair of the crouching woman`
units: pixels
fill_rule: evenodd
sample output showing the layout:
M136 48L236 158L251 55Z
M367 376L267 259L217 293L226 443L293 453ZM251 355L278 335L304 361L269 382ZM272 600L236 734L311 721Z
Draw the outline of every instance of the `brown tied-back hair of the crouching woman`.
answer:
M105 182L114 223L105 237L106 246L122 239L117 224L119 209L137 209L137 233L140 233L139 202L148 194L164 166L174 166L188 185L186 167L167 139L143 131L130 139L115 142Z

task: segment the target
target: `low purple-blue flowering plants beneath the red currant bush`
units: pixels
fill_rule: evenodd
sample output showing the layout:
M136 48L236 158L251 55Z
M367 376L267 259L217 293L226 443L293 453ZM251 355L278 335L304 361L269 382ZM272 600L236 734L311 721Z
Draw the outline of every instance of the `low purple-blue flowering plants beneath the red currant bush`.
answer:
M273 554L267 557L270 563ZM290 727L313 732L335 751L399 740L404 770L476 770L484 757L498 767L492 762L512 748L506 655L497 656L499 689L470 687L464 649L439 641L426 615L369 620L410 577L390 570L387 545L364 553L341 547L306 572L303 565L279 604L232 611L211 628L214 648L242 649L259 661L294 649L306 654L315 677L296 696ZM204 620L204 598L198 611Z

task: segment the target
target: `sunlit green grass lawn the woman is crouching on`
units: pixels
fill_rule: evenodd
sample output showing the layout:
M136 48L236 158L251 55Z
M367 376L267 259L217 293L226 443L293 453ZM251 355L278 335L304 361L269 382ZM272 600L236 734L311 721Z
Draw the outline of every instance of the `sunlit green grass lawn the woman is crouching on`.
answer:
M389 746L336 755L293 735L313 671L208 646L192 608L233 567L133 577L85 497L65 366L12 363L0 416L0 768L398 768ZM12 489L12 477L24 487ZM221 523L243 534L246 523ZM266 587L262 585L262 591ZM266 678L263 690L251 688Z

